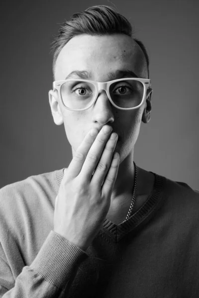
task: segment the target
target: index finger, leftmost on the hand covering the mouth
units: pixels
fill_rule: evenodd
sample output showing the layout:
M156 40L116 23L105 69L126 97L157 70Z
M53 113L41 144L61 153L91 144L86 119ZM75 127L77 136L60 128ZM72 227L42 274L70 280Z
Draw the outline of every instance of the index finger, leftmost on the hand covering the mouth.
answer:
M103 129L101 129L101 131L102 130ZM82 167L83 167L83 164L85 162L85 159L87 158L88 152L91 149L92 145L94 144L94 142L96 140L96 137L99 134L100 135L102 134L101 131L99 133L99 130L95 128L95 129L92 129L86 135L86 137L84 138L83 142L80 144L80 146L76 150L76 153L73 156L73 159L72 159L72 161L70 162L70 164L68 166L67 176L70 176L71 178L74 178L74 177L77 177L80 174L80 172L82 170ZM106 134L106 140L107 140L109 134L110 134L110 132L108 134ZM100 143L99 140L98 140L98 143ZM100 145L102 145L102 144L100 143ZM105 145L105 143L104 143L104 145ZM102 146L101 146L101 148L102 148ZM95 155L94 152L92 154ZM92 157L91 157L91 156L93 156L92 154L89 157L90 158L90 163L92 163L92 161L94 161L94 160L92 160ZM99 153L98 153L98 155L99 155ZM100 155L101 155L101 152L100 152ZM96 160L95 164L97 164L97 160ZM92 166L92 168L93 168L93 166ZM91 171L92 171L92 169L90 168L90 172ZM93 170L93 172L94 172L94 170ZM92 175L93 172L92 173L89 173L89 175Z

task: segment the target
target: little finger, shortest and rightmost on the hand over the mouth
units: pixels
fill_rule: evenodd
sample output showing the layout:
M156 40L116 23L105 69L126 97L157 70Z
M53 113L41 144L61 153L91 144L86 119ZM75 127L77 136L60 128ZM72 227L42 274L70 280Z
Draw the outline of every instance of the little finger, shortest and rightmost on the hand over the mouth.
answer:
M102 196L104 196L104 195L106 197L111 196L113 186L114 186L115 180L117 178L118 168L119 168L119 153L115 152L114 156L112 158L111 164L110 164L110 168L107 172L107 175L104 179L104 182L103 182L103 185L101 188Z

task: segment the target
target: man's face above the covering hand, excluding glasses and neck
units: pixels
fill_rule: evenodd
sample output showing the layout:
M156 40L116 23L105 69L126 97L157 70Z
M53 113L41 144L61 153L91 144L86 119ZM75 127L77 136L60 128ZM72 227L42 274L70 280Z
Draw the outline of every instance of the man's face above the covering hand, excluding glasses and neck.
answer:
M132 38L124 34L79 35L72 38L57 58L55 80L63 80L73 71L87 71L92 74L91 80L99 82L110 80L110 73L116 71L131 71L137 77L147 78L147 66L142 50ZM73 74L72 77L80 78L77 74ZM111 80L120 77L117 75L111 77ZM52 102L57 101L57 92L51 90L50 94L55 120L56 109L53 108ZM122 162L134 148L145 108L146 101L138 109L119 110L110 103L105 91L102 91L95 105L85 111L70 111L57 104L57 113L64 123L73 154L92 128L100 130L103 125L108 124L113 128L113 132L118 134L115 151L120 154ZM56 120L55 123L58 124Z

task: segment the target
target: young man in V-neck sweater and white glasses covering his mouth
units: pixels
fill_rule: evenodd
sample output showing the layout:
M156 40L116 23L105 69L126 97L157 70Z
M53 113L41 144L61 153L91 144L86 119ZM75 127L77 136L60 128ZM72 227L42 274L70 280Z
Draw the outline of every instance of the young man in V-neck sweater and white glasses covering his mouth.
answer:
M133 161L151 112L143 44L93 6L62 25L53 71L73 159L1 189L0 297L197 298L199 193Z

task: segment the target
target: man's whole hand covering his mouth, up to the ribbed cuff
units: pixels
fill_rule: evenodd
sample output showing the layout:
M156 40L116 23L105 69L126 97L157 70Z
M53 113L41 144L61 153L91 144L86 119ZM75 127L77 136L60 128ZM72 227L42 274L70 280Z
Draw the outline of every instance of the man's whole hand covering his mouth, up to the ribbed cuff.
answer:
M112 128L105 132L107 128L92 129L95 134L86 135L64 174L55 202L54 231L83 250L100 231L119 166L119 154L113 155L118 136L111 134Z

